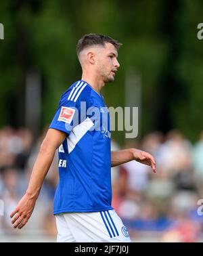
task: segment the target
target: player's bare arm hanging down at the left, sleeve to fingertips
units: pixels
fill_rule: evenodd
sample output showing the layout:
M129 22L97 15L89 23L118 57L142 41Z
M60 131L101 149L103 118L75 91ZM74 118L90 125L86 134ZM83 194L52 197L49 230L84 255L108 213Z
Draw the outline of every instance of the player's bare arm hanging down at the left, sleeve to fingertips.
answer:
M41 186L53 161L55 150L62 144L65 137L66 133L62 131L55 129L47 131L32 169L26 194L24 194L20 202L18 202L18 206L10 215L11 218L14 217L12 219L14 228L22 228L32 215Z

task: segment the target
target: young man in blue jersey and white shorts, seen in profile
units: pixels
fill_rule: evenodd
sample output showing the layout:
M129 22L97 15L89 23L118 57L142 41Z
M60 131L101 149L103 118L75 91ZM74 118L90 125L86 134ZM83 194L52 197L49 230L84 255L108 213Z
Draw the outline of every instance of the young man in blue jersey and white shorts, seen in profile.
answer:
M62 95L26 194L11 214L14 228L22 228L30 218L59 148L60 182L53 203L58 242L131 241L111 206L111 167L135 160L156 172L156 164L152 155L135 148L110 150L109 112L99 93L105 83L114 81L119 47L104 35L85 35L78 41L82 79Z

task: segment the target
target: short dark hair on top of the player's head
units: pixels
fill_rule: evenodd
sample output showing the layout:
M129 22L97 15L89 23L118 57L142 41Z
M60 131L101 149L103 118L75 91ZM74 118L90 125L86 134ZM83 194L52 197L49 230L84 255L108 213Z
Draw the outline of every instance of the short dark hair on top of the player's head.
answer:
M114 47L117 50L122 45L122 43L118 43L118 41L106 35L88 34L88 35L84 35L81 39L78 40L77 47L76 47L77 56L81 53L81 51L83 51L83 49L91 45L105 46L105 43L112 43L112 45L114 45Z

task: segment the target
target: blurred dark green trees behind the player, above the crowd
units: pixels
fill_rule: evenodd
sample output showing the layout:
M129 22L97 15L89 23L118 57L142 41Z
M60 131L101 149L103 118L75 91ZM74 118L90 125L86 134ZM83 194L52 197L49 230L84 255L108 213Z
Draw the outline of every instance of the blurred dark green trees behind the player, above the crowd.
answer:
M41 74L41 125L50 123L60 95L81 78L78 39L102 33L123 43L116 80L104 87L107 105L124 106L125 75L135 67L142 81L141 134L177 128L196 140L203 128L202 7L201 0L1 0L0 125L24 125L30 70ZM123 143L124 133L113 138Z

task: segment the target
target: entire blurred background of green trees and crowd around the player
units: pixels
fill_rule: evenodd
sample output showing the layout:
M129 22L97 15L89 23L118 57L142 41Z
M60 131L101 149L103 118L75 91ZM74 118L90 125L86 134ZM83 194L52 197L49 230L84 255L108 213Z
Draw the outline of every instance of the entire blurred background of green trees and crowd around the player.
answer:
M88 33L122 43L108 107L138 106L139 133L112 132L112 149L154 155L112 168L113 207L135 242L203 242L203 40L201 0L1 0L0 242L54 242L58 154L22 230L10 213L28 184L62 93L81 79L76 43ZM202 213L202 214L200 214Z

